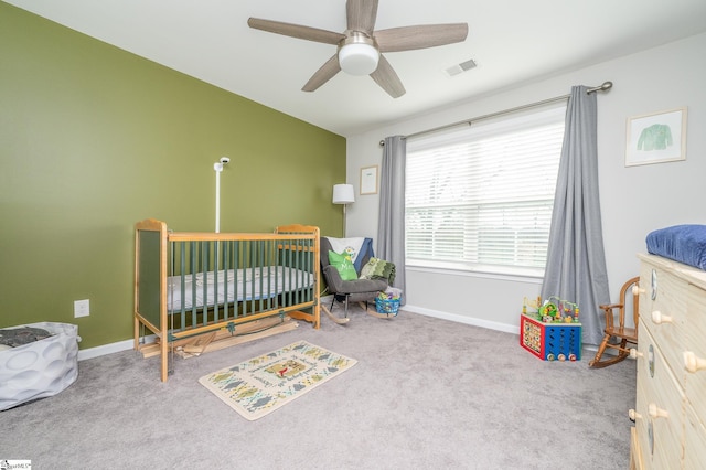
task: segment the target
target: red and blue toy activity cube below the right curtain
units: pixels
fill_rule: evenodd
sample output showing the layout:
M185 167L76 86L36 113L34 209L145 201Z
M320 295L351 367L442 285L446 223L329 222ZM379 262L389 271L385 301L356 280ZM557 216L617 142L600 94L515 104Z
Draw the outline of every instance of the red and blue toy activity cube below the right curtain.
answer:
M522 313L520 345L543 361L580 361L581 323L544 323Z

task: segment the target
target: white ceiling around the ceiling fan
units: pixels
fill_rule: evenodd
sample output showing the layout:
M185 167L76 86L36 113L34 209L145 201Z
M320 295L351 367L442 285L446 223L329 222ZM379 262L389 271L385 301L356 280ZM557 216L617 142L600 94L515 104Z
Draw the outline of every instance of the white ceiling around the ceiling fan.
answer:
M335 46L247 26L256 17L343 32L345 0L6 1L345 137L706 31L705 0L379 0L377 30L469 24L463 43L385 54L407 89L393 99L343 72L301 92ZM445 73L469 58L478 67Z

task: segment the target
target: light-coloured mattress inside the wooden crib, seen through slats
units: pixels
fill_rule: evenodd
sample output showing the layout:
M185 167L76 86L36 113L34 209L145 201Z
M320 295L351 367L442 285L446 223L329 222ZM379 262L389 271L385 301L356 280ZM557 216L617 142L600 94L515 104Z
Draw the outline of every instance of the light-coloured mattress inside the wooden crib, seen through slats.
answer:
M183 285L183 291L182 291ZM227 302L260 300L313 286L313 275L284 266L263 266L167 278L169 311L214 307Z

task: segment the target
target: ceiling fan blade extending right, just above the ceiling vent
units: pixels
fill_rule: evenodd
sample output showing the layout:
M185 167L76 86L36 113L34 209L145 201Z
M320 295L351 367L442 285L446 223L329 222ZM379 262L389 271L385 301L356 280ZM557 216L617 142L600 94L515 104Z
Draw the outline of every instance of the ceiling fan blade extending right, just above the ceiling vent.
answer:
M411 51L466 41L468 23L420 24L375 31L379 52Z

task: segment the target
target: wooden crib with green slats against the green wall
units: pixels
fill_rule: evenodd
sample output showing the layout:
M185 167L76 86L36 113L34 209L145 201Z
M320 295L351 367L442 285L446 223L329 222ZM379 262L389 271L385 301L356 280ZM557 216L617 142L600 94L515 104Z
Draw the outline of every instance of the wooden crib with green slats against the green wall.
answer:
M171 232L149 218L136 224L135 245L135 349L161 356L162 382L170 352L276 332L290 319L320 325L318 227ZM145 329L154 342L145 344Z

